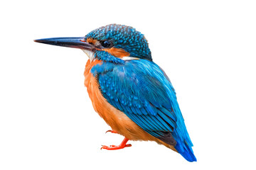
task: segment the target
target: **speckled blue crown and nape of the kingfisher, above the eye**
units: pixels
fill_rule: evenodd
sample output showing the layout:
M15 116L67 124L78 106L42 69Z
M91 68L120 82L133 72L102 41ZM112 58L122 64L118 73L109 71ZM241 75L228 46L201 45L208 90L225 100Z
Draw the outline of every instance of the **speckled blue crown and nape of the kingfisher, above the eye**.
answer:
M97 40L100 43L108 40L112 47L129 52L130 57L138 57L152 61L149 45L142 33L130 26L110 24L92 30L85 38Z

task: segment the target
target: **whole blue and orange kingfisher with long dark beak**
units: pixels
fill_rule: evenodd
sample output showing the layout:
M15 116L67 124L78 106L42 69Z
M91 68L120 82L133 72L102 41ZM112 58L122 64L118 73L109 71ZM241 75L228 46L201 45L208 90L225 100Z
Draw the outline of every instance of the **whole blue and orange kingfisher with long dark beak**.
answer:
M196 162L174 87L153 62L142 33L110 24L84 37L34 41L78 48L89 57L84 76L92 106L112 128L107 132L124 136L120 145L101 149L131 147L128 140L154 141Z

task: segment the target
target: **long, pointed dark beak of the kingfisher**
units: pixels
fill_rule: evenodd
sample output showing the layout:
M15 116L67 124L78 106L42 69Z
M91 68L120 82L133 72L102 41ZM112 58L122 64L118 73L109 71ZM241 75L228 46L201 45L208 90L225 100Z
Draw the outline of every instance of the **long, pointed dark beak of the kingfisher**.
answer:
M85 37L80 38L44 38L34 40L35 42L41 42L48 45L58 45L63 47L73 47L82 50L92 51L95 47L85 41Z

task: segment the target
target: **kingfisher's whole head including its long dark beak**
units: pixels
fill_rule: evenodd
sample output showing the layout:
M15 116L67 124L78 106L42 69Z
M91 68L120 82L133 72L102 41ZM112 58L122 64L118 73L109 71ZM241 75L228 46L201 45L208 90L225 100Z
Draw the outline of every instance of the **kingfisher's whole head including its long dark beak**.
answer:
M129 26L110 24L80 38L46 38L36 42L83 50L90 60L122 63L131 57L152 61L148 42L142 33Z

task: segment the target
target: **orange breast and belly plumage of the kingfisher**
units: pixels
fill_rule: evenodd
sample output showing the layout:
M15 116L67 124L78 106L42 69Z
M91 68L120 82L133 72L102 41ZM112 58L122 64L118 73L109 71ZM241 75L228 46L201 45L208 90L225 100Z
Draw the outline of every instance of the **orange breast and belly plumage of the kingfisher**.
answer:
M129 140L151 140L175 150L173 146L167 145L165 142L162 142L156 137L149 135L149 133L142 130L142 128L129 119L127 115L122 113L122 111L117 110L117 108L114 108L114 106L107 102L107 100L102 96L97 80L90 72L93 66L96 64L101 64L101 62L102 61L100 60L95 60L93 62L88 60L84 73L85 86L87 87L89 97L92 101L92 106L100 117L102 117L105 122L110 125L112 130L116 131L120 135L123 135L124 137L127 137Z

